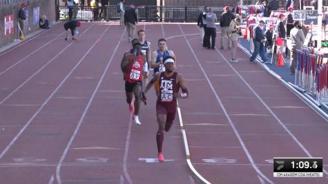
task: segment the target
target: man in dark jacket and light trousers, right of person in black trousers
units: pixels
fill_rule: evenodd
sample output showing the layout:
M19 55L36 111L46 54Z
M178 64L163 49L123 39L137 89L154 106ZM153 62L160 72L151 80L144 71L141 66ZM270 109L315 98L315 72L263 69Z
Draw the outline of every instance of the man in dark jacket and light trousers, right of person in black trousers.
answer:
M231 50L231 39L229 39L230 23L235 19L235 16L230 12L229 6L224 7L224 12L221 14L221 49L224 49L223 37L228 37L228 49Z

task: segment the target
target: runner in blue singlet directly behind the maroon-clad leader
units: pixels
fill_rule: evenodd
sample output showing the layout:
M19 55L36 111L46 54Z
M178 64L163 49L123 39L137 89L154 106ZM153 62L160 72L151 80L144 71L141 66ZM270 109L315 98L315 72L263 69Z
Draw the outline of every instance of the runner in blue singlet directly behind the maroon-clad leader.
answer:
M157 72L164 72L165 71L165 67L163 64L163 58L166 56L171 56L173 58L175 58L175 54L173 52L173 50L167 50L167 45L166 45L166 39L159 39L158 42L158 50L154 51L153 54L151 55L151 68L154 69L154 76ZM176 63L176 61L175 61ZM174 66L176 65L174 63ZM159 88L160 86L158 85L158 83L154 84L154 88L155 88L155 92L156 95L159 95Z

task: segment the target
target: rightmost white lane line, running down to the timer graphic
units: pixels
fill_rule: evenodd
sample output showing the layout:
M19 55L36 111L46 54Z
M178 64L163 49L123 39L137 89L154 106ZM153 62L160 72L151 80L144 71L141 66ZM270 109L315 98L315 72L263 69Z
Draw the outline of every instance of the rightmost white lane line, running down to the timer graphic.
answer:
M265 103L263 101L263 99L260 97L260 95L258 95L257 92L255 92L255 90L251 87L251 85L249 85L249 83L247 83L247 81L242 78L242 75L235 70L235 68L233 68L233 66L231 65L231 63L224 57L224 55L220 52L220 50L218 50L217 48L215 48L215 50L221 55L221 57L226 61L226 63L230 66L230 68L233 70L233 72L235 72L235 74L237 74L239 76L239 78L244 82L245 85L247 85L247 87L249 88L249 90L251 90L251 92L253 92L253 94L256 96L256 98L258 98L258 100L264 105L264 107L270 112L270 114L274 117L274 119L276 119L276 121L278 121L278 123L284 128L284 130L291 136L291 138L298 144L298 146L303 150L303 152L305 152L305 154L307 154L307 156L309 157L313 157L310 152L307 150L307 148L305 148L304 145L302 145L302 143L300 143L300 141L298 141L298 139L296 138L296 136L291 133L291 131L288 129L288 127L286 125L284 125L284 123L282 123L282 121L278 118L278 116L271 110L271 108L269 108L269 105L267 105L267 103ZM323 170L323 172L325 172L326 175L328 175L327 170Z

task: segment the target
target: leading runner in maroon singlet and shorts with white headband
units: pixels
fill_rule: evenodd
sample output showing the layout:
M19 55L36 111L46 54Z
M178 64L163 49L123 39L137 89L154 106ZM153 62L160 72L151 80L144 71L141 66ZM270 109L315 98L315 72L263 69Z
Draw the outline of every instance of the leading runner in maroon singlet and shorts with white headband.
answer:
M163 59L165 72L157 72L153 79L146 85L145 93L151 88L151 86L159 81L160 84L160 96L156 102L156 115L158 121L158 130L156 134L158 161L163 162L164 156L162 154L162 145L164 141L164 130L168 132L170 130L173 121L175 119L175 112L177 110L177 98L179 97L179 89L182 89L180 94L181 98L187 98L189 96L182 74L174 72L174 58L166 56Z

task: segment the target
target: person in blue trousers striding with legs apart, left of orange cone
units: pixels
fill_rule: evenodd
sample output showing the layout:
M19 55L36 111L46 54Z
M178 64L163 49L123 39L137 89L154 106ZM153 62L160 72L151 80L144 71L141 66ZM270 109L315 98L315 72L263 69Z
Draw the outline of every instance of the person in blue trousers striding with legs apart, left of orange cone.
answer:
M264 49L264 21L259 21L258 25L255 25L253 28L253 43L254 43L254 52L249 59L249 63L254 63L258 53L260 52L260 57L263 63L268 62L267 55L265 54Z

